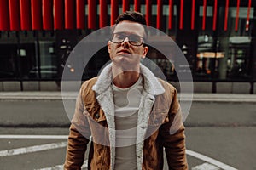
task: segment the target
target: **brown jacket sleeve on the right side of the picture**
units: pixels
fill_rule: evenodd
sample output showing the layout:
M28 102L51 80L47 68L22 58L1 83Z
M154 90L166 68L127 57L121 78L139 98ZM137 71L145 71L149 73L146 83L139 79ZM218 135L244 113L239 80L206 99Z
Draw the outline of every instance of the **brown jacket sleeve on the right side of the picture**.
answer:
M187 170L185 128L183 126L176 89L172 92L172 104L168 113L168 119L169 122L166 122L160 127L160 135L166 150L169 169Z

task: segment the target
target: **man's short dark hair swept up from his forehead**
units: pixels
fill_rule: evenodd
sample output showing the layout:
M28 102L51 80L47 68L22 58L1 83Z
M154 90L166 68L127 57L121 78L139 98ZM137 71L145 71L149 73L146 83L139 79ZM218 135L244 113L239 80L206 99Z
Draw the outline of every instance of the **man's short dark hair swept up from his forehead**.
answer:
M115 26L119 24L119 22L124 21L124 20L129 20L132 22L137 22L141 25L143 25L144 31L145 31L145 36L144 39L145 41L147 40L148 37L148 28L147 28L147 22L145 20L145 17L143 14L136 12L136 11L125 11L123 14L119 14L118 18L115 20L115 25L113 26L112 33L115 29Z

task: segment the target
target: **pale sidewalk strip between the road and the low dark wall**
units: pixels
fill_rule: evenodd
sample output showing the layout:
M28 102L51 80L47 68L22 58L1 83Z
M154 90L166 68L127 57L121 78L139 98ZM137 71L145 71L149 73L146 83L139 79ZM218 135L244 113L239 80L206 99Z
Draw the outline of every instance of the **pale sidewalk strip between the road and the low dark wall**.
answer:
M78 93L70 92L61 95L61 92L1 92L0 100L61 100L76 99ZM181 101L193 102L249 102L256 103L256 94L179 94Z

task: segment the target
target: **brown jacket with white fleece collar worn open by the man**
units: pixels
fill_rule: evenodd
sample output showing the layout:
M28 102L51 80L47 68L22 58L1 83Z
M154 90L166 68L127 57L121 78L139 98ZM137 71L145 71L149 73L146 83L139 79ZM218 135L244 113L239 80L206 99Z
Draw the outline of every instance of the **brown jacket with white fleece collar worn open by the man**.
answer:
M163 169L163 151L169 169L188 169L185 136L177 91L141 66L144 90L137 120L137 169ZM68 137L65 169L80 169L90 143L88 169L113 169L115 131L111 65L83 83ZM108 77L108 78L106 78Z

